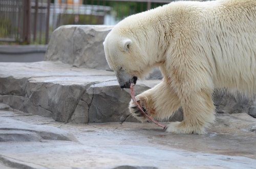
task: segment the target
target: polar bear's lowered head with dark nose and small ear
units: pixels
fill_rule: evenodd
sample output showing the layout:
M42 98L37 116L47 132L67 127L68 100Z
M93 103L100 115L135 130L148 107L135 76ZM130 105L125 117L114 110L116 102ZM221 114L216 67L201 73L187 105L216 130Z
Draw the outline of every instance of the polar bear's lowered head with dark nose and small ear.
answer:
M119 31L120 32L120 31ZM106 61L114 70L121 88L130 88L137 78L148 73L148 57L141 42L133 36L121 35L112 30L103 42Z

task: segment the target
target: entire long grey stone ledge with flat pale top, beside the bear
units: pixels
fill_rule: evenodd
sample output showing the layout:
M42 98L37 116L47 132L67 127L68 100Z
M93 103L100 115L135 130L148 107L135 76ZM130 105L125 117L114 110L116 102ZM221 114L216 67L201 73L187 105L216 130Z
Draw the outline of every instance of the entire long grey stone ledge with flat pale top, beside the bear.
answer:
M26 113L66 123L137 122L127 109L130 90L119 87L113 71L53 61L0 63L0 82L0 101ZM135 92L159 82L140 81Z

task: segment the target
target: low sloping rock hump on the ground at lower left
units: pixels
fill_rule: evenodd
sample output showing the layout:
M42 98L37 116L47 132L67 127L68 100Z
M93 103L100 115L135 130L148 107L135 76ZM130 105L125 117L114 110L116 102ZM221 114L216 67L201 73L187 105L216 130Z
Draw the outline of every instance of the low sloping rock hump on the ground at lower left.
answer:
M0 111L0 114L1 117L32 115L13 111ZM36 126L13 118L1 118L0 141L40 141L43 139L76 141L72 134L56 127Z

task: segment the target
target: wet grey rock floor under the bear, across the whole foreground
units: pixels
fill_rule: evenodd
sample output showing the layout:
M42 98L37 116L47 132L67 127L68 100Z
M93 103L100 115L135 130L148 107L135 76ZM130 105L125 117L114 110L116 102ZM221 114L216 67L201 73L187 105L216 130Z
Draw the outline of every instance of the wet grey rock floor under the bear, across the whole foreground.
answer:
M151 123L65 124L2 110L0 167L255 168L255 123L218 114L205 135L175 135Z

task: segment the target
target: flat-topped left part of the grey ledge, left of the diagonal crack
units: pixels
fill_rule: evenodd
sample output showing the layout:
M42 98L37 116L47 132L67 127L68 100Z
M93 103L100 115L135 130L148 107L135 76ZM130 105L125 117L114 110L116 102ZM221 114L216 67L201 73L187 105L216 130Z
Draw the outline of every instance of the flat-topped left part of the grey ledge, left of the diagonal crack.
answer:
M0 67L4 103L60 122L69 122L87 85L116 79L111 71L72 68L60 62L3 63ZM88 120L77 123L81 122Z

